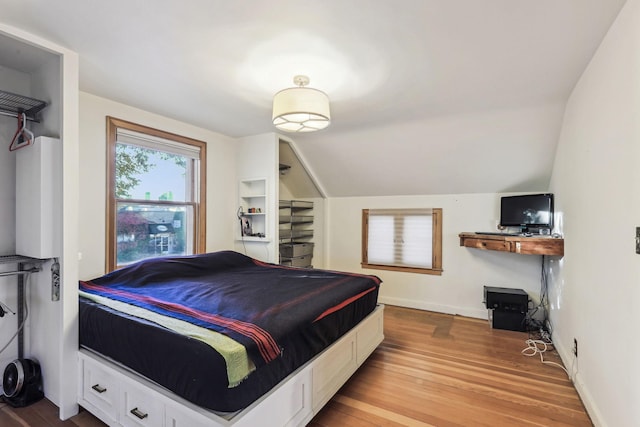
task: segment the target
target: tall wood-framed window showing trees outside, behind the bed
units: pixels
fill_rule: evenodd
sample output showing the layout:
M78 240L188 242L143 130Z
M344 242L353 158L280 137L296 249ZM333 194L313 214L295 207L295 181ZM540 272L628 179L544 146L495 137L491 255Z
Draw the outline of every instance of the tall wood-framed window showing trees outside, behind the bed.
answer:
M107 271L204 252L204 142L107 117L107 162Z

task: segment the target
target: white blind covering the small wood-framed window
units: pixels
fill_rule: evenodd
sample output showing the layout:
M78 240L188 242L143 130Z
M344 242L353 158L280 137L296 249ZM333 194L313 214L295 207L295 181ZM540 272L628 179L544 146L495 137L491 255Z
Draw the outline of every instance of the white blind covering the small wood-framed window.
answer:
M368 263L432 268L432 209L371 209Z

